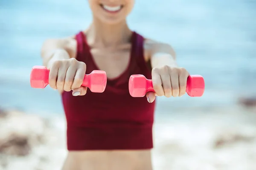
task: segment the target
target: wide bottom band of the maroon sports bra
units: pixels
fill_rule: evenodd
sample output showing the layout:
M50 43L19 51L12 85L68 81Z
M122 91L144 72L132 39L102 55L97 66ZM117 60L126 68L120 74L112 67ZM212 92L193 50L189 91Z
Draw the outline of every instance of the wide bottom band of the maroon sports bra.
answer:
M68 150L140 150L153 148L152 125L67 126Z

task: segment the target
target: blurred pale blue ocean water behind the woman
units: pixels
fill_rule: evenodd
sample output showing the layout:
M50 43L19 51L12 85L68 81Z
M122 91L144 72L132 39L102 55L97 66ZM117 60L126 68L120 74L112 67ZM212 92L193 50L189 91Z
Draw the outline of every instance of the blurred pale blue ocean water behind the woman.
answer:
M201 74L206 83L199 98L160 97L158 113L232 106L240 96L256 95L255 9L256 0L136 1L129 26L170 43L178 64L190 74ZM58 92L30 87L30 71L42 65L45 39L76 34L90 22L87 0L1 0L0 106L62 113Z

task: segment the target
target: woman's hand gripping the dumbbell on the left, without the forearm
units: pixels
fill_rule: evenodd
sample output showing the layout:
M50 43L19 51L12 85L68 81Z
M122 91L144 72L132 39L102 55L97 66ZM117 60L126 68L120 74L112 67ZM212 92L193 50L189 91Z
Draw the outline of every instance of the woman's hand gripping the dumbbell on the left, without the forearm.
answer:
M71 91L73 96L82 96L87 87L81 87L86 71L86 64L75 58L52 62L49 72L49 85L58 91Z

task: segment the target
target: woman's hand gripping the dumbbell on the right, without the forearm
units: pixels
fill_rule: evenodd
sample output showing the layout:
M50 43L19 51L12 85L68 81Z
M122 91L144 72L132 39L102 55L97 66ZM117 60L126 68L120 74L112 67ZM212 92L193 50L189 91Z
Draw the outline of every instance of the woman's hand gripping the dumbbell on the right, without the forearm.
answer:
M148 92L148 102L153 102L155 96L177 97L186 93L188 71L181 67L165 65L152 69L152 82L154 92Z

